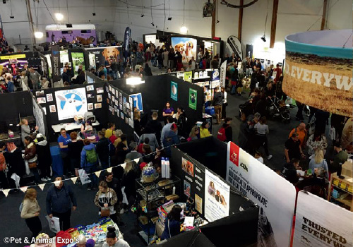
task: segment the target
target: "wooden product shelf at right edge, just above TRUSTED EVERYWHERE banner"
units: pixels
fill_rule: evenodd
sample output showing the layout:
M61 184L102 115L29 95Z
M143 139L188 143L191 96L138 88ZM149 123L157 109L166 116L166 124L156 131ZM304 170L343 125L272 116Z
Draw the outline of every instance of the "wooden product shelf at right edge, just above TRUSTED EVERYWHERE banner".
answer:
M345 205L347 209L353 212L353 181L352 177L343 175L345 179L340 179L337 173L331 174L330 188L328 191L328 200L331 202L338 202L339 205ZM333 190L342 193L348 193L346 198L340 199L333 196Z

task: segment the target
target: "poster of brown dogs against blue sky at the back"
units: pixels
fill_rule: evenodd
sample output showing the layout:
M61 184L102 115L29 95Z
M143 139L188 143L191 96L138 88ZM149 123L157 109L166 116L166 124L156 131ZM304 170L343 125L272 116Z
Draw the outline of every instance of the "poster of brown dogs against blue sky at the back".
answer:
M189 37L172 37L172 47L174 51L179 51L183 56L182 63L189 64L189 61L193 57L197 59L196 53L197 40Z

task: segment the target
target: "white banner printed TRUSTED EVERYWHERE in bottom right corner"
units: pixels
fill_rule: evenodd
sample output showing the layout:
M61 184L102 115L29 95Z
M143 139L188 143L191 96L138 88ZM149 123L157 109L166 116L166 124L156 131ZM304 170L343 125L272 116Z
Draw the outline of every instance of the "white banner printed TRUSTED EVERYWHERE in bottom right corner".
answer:
M294 247L353 246L353 212L299 191Z

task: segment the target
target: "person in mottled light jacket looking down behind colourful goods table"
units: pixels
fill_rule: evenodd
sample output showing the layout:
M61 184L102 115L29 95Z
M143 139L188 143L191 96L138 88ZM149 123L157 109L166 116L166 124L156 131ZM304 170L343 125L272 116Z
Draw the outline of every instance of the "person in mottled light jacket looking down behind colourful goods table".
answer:
M100 217L110 217L117 223L114 205L118 202L114 189L109 188L106 181L100 181L99 191L95 194L95 205L100 207L98 214Z

